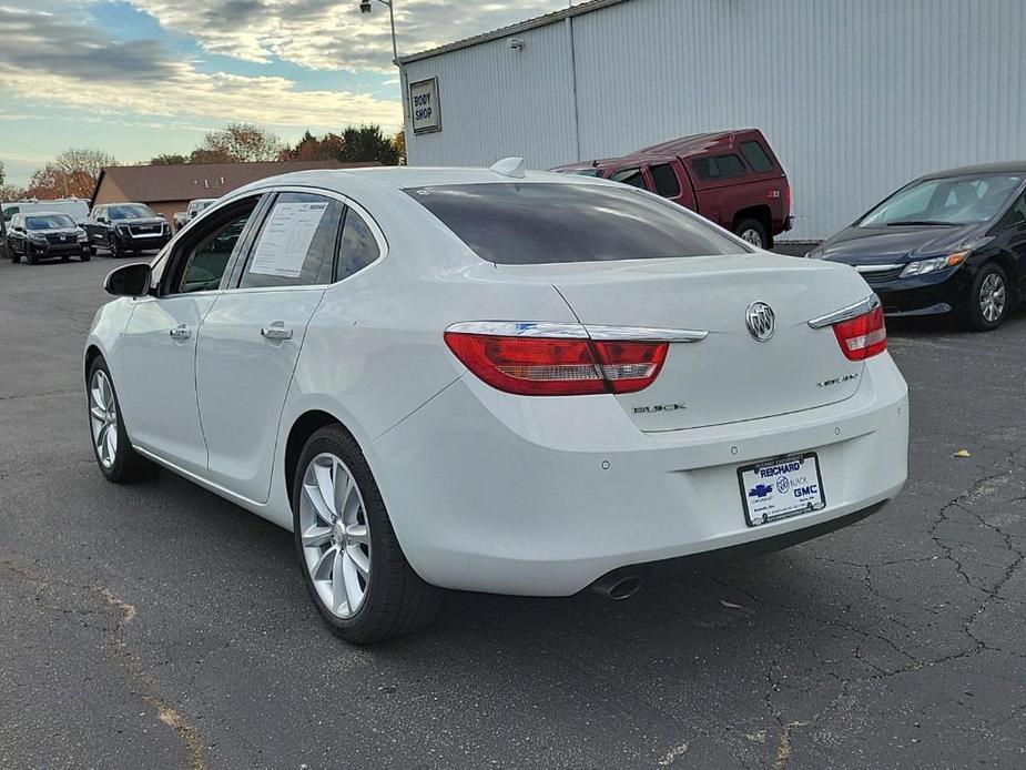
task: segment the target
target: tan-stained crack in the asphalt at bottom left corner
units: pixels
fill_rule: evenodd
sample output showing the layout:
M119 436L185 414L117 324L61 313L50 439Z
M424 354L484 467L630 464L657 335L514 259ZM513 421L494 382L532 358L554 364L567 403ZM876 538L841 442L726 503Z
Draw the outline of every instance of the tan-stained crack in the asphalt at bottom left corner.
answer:
M118 660L118 663L121 666L121 669L125 672L129 680L132 682L136 695L139 695L140 699L146 706L156 712L158 719L160 719L164 725L177 733L179 738L189 750L190 770L207 770L206 760L203 757L203 740L201 739L200 731L189 722L189 719L182 715L181 711L175 709L174 706L158 695L156 685L153 681L153 678L146 673L139 657L135 656L129 647L126 639L128 627L129 624L131 624L139 615L133 605L129 604L110 588L104 586L79 585L68 580L43 577L35 575L32 570L13 561L4 560L0 564L7 567L7 569L13 575L21 577L24 580L41 584L45 587L65 586L99 594L105 601L106 606L114 609L118 614L118 619L114 624L114 630L111 634L111 641L114 646L114 657ZM67 607L47 604L40 604L39 606L45 609L52 609L54 611L65 614L88 614L98 611L83 609L71 610Z

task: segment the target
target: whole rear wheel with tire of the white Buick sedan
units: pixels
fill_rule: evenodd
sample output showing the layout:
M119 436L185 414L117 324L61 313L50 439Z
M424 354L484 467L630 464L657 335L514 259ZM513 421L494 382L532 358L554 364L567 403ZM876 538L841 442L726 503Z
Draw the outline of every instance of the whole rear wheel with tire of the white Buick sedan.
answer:
M341 425L309 437L292 483L303 579L337 636L366 645L435 617L441 591L409 566L367 460Z

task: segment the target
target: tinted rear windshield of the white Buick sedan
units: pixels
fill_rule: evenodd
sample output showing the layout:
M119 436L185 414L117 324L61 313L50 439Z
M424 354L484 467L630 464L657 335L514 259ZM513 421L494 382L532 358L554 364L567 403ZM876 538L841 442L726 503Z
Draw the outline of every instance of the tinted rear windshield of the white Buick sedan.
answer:
M488 262L505 265L738 254L737 241L628 188L549 182L410 188Z

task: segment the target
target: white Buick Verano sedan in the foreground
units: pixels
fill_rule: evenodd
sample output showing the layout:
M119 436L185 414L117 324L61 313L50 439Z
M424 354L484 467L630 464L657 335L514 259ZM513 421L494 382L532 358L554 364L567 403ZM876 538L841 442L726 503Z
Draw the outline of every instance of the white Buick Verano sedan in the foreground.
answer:
M907 389L859 274L614 182L278 176L105 286L102 473L164 466L293 530L354 642L421 626L441 588L626 598L905 482Z

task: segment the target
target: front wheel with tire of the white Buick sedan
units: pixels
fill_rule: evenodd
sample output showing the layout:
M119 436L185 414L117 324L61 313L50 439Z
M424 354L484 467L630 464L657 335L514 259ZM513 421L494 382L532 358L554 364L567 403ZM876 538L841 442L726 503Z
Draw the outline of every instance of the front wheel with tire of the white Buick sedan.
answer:
M126 484L155 476L160 467L132 448L114 381L103 356L96 356L89 367L85 397L93 456L106 479Z

